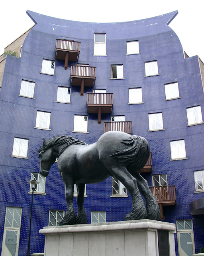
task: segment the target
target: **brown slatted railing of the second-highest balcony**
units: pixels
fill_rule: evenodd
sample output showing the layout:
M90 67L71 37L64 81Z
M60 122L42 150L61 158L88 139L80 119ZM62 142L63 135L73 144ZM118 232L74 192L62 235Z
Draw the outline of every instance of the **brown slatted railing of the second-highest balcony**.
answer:
M96 77L96 67L71 65L71 76Z

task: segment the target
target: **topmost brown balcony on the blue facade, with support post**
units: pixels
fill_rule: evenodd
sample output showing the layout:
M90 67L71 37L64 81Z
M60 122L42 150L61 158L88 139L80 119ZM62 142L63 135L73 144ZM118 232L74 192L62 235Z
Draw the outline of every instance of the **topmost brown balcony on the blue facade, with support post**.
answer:
M80 51L80 42L57 39L55 46L55 59L65 60L64 69L67 69L68 60L77 61Z

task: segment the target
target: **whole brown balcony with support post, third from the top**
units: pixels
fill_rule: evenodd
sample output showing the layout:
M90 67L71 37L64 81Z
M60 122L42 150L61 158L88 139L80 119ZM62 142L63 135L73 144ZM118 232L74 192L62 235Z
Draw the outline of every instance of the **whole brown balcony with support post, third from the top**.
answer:
M101 114L110 114L113 110L113 93L87 93L87 112L98 113L98 124Z

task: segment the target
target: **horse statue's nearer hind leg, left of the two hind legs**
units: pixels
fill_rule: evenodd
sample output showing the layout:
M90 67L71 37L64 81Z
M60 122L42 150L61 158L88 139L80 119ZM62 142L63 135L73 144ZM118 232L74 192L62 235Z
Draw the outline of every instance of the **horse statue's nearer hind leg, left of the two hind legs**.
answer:
M137 187L137 180L125 166L109 168L110 173L118 178L128 189L132 198L132 210L125 216L125 220L141 220L146 217L146 208Z

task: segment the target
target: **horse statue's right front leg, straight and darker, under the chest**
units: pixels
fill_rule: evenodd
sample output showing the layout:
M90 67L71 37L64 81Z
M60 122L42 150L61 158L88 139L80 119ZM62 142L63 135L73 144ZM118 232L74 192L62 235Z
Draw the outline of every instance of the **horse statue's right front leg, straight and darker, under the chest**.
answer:
M76 218L76 224L87 224L88 220L86 218L86 214L84 211L84 188L85 184L77 184L77 205L78 205L78 213Z

